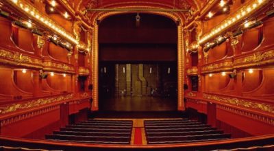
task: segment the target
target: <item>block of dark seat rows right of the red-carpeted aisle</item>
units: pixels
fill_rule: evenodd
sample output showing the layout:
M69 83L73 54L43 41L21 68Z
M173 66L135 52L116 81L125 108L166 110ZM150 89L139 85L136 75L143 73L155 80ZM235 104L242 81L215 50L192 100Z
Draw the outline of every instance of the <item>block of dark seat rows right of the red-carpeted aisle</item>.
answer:
M148 144L212 141L231 137L223 134L223 130L189 119L145 120L144 124Z

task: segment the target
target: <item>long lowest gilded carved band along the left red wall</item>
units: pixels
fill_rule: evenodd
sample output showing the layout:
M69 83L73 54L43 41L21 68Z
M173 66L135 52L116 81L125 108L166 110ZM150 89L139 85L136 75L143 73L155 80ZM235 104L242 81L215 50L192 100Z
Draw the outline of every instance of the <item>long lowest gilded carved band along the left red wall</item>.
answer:
M55 103L55 102L61 102L64 100L70 100L72 98L73 98L73 93L66 94L66 95L54 96L54 97L29 100L29 102L25 102L25 103L9 104L8 106L0 107L0 115L5 114L5 113L12 113L12 112L27 109L27 108L34 108L37 106L51 104L51 103Z

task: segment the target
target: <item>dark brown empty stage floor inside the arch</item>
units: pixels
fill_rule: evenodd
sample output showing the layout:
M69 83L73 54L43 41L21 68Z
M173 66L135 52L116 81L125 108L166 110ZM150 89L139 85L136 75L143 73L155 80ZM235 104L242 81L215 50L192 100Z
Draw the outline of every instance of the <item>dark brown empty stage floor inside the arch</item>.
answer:
M117 96L99 102L99 111L177 111L177 98Z

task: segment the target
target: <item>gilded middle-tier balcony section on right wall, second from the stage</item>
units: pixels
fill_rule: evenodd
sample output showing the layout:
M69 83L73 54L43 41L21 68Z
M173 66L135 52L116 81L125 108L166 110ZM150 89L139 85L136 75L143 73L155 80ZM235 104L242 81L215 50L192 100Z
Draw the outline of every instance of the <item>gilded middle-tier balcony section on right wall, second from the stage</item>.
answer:
M227 71L233 69L232 60L224 60L223 62L212 63L201 67L201 73L212 73L217 71Z

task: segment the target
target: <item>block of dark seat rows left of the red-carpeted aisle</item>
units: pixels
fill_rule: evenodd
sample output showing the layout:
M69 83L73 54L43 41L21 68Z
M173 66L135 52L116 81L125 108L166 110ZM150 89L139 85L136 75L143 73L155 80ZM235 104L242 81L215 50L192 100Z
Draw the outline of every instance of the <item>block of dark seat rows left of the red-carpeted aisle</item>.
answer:
M132 121L88 119L67 125L46 135L54 141L74 141L82 143L129 144L132 136Z

